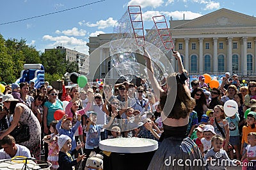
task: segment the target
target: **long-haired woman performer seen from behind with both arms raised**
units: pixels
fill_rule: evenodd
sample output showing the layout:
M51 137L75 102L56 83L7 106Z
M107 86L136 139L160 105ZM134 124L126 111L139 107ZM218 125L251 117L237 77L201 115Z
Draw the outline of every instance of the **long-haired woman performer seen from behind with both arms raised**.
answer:
M163 120L164 132L159 142L161 145L152 158L148 169L205 169L200 166L190 165L179 166L170 164L166 166L166 160L199 160L204 162L204 158L196 144L186 137L189 123L189 114L195 107L195 100L191 98L186 79L188 75L183 68L179 52L173 51L173 56L177 59L179 73L173 73L166 79L167 91L161 89L156 77L150 55L144 50L144 58L148 68L148 79L155 92L155 97L160 98L161 118ZM170 160L172 158L172 160Z

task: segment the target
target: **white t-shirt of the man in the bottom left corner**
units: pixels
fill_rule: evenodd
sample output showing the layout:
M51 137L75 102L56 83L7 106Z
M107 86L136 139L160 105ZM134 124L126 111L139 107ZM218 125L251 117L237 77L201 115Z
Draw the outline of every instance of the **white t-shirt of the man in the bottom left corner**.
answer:
M17 152L15 154L15 157L17 156L24 156L24 157L31 157L30 155L30 151L28 148L26 148L26 146L22 146L22 145L19 145L19 144L15 144L17 146ZM4 158L12 158L10 157L10 155L8 155L4 149L1 149L0 150L0 159L4 159Z

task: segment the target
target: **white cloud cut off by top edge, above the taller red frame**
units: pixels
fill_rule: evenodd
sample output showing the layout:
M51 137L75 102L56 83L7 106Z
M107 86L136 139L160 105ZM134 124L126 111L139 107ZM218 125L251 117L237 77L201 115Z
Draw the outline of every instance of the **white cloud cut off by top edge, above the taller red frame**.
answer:
M169 0L172 1L172 0ZM157 8L164 3L163 0L131 0L128 5L140 5L141 8L152 7Z

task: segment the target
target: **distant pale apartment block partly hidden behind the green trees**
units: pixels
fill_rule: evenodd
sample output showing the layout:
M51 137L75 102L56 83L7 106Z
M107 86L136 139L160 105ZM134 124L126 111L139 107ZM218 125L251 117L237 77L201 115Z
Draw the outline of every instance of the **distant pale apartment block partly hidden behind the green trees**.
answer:
M88 74L89 73L89 56L86 54L83 54L81 52L77 52L76 50L66 49L62 46L57 46L56 49L60 50L61 53L66 54L66 61L70 62L76 62L79 68L79 73L81 74ZM45 49L46 51L49 50L56 50L54 49Z

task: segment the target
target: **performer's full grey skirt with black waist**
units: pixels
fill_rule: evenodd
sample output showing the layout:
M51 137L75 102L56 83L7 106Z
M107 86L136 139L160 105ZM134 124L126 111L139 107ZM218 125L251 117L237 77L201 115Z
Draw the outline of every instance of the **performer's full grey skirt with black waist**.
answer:
M164 134L159 139L163 139L163 142L154 154L148 169L205 169L204 158L198 146L186 137L187 127L188 125L170 127L163 124Z

